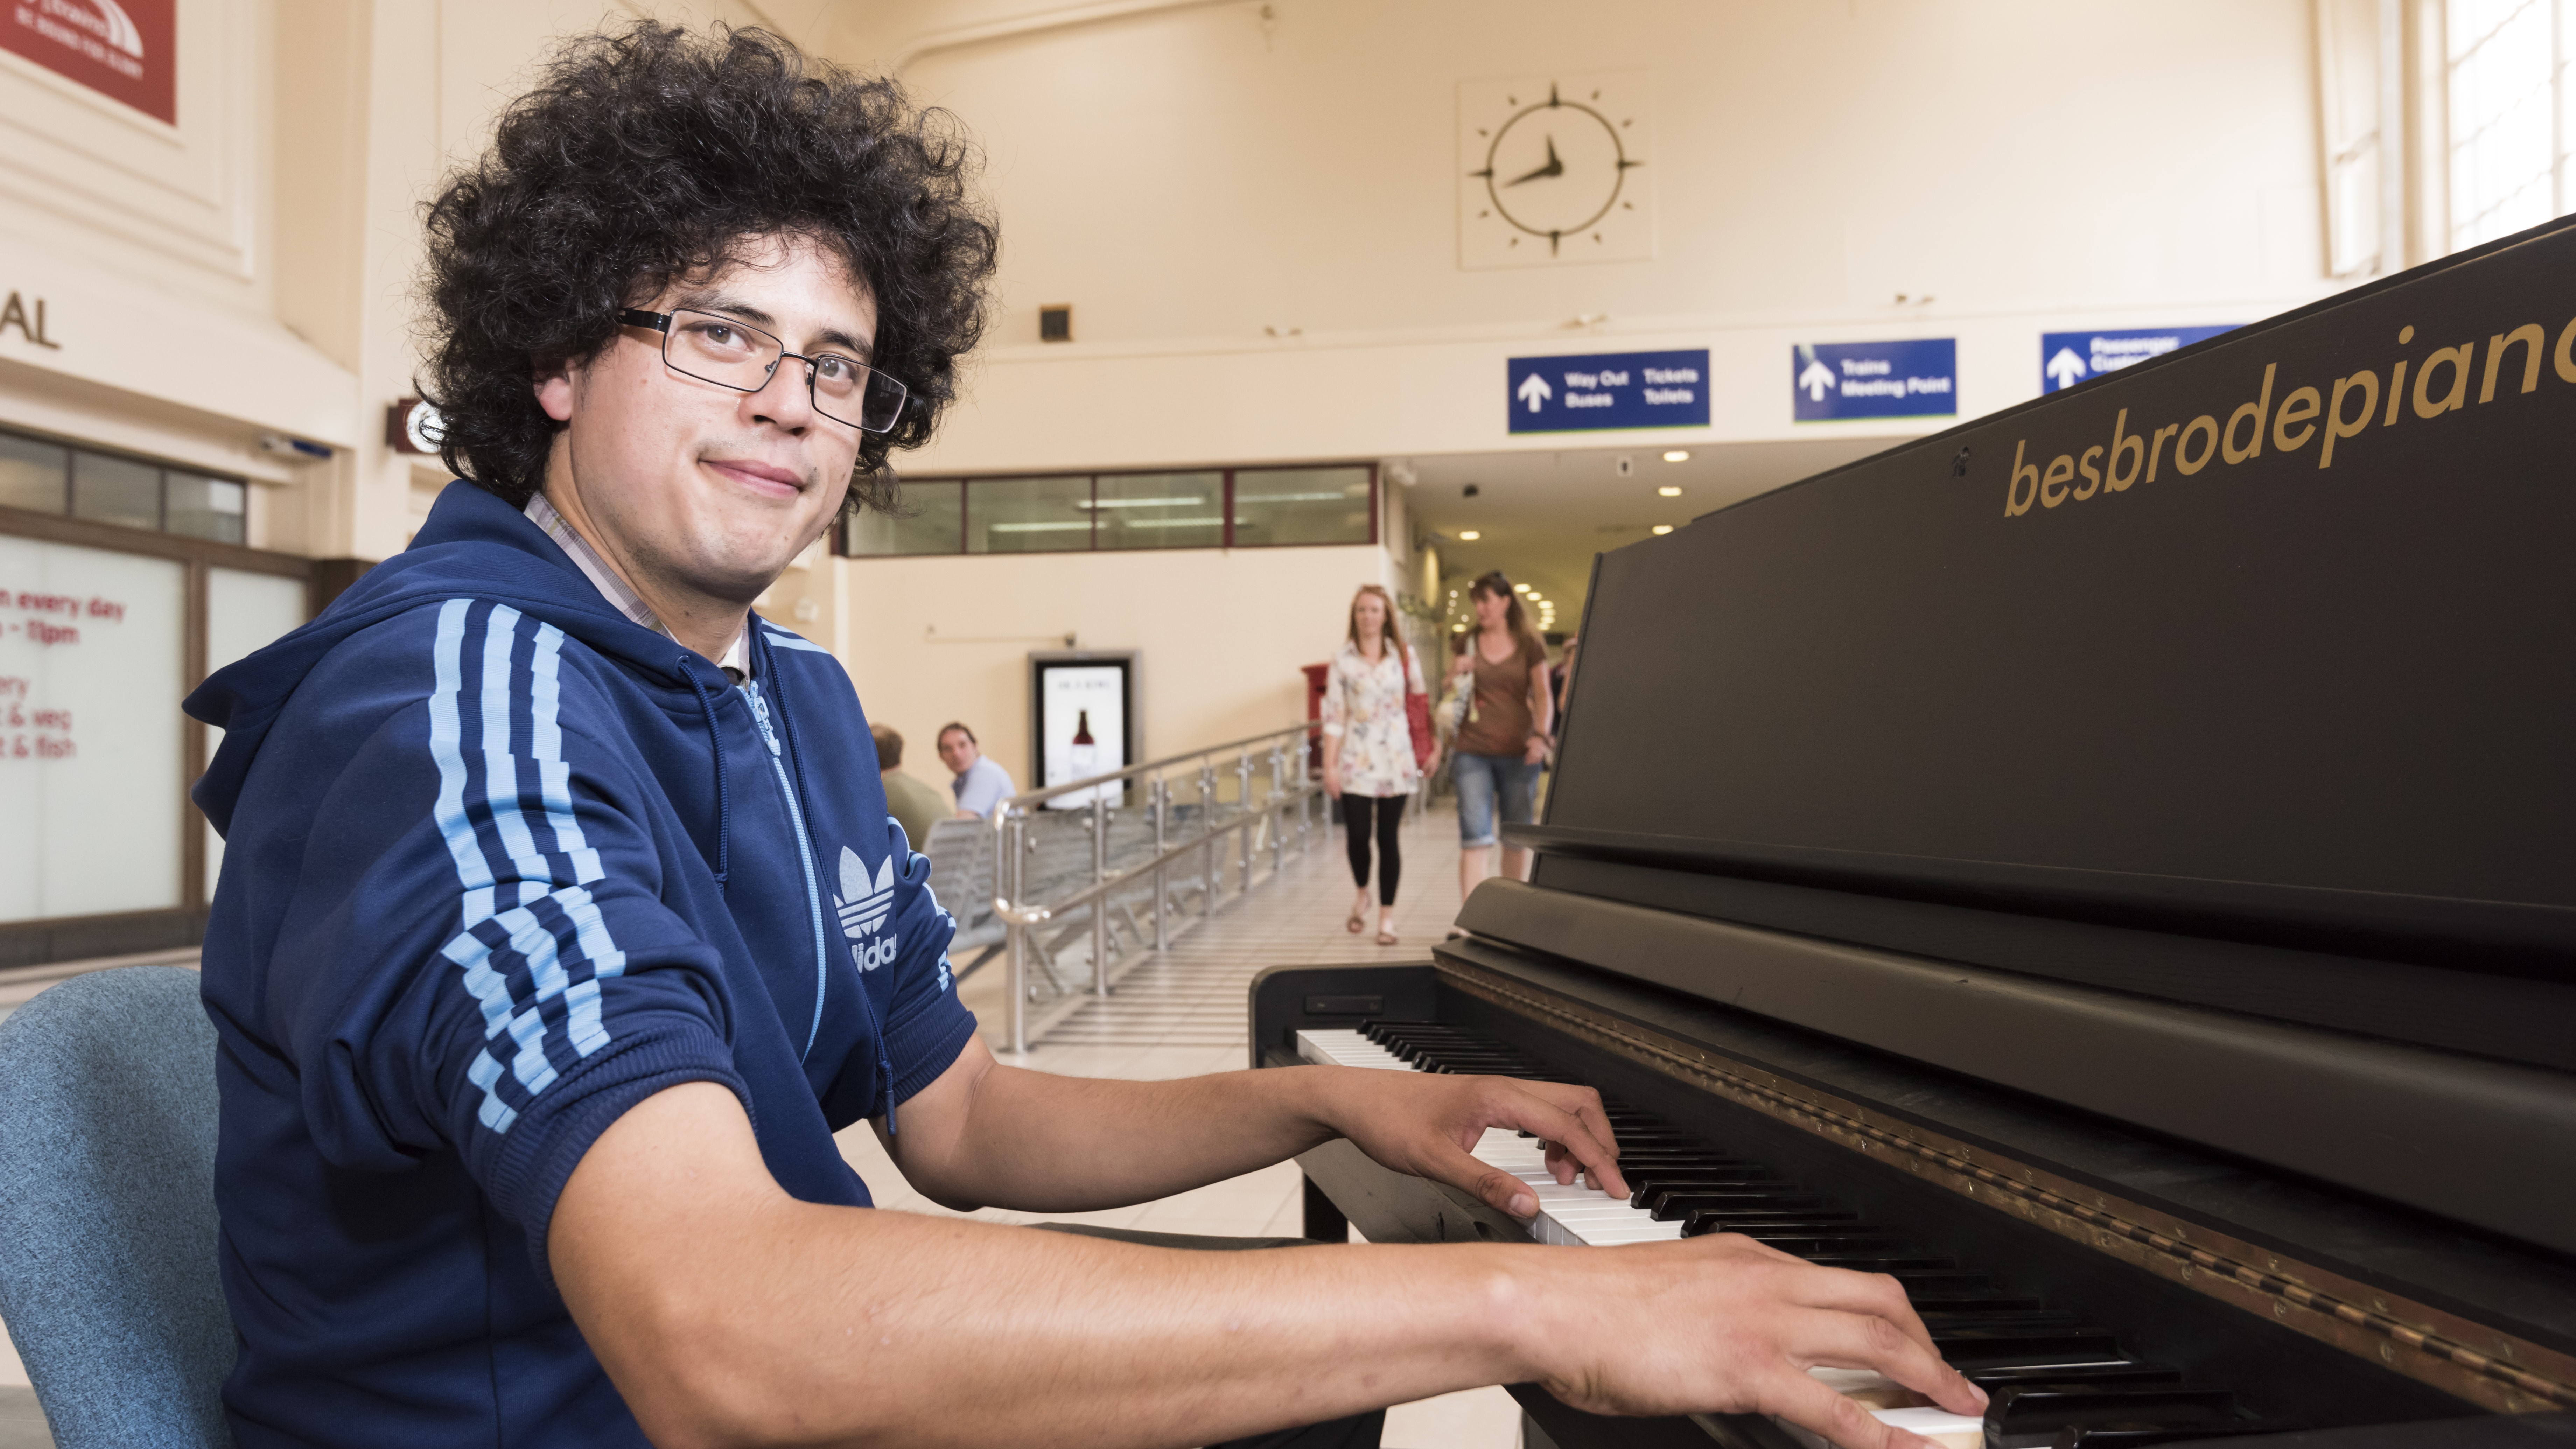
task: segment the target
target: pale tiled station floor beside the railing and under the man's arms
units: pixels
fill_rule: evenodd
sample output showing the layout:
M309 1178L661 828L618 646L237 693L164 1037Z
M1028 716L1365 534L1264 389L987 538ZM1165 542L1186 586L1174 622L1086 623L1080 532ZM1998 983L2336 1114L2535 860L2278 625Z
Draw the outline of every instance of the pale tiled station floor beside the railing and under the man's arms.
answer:
M1064 1021L1025 1057L1012 1057L1002 1029L1002 964L976 972L961 987L984 1021L984 1039L1005 1062L1079 1078L1190 1078L1247 1065L1249 1024L1244 993L1262 967L1319 962L1414 962L1448 933L1458 915L1458 825L1432 810L1404 825L1404 877L1396 897L1401 944L1376 944L1342 928L1350 913L1350 864L1342 841L1319 838L1306 856L1288 856L1280 879L1255 877L1252 895L1224 900L1213 918L1195 920L1172 938L1164 959L1136 967L1115 995ZM866 1127L845 1132L840 1150L868 1178L876 1201L902 1212L951 1214L904 1186ZM951 1214L953 1217L953 1214ZM1293 1163L1262 1168L1195 1191L1082 1214L1023 1214L984 1209L989 1222L1097 1222L1154 1232L1208 1232L1221 1238L1291 1238L1301 1230L1298 1171ZM1512 1449L1520 1444L1520 1405L1502 1390L1468 1390L1388 1410L1388 1449Z

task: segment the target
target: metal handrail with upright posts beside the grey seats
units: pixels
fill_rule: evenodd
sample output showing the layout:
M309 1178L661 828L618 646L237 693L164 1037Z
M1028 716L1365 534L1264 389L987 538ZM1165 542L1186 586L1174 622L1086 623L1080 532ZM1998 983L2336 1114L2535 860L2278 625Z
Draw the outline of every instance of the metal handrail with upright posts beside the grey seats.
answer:
M1056 915L1061 915L1061 913L1069 913L1074 908L1090 905L1092 908L1092 913L1090 913L1092 915L1092 993L1105 998L1110 993L1110 985L1113 985L1110 982L1110 969L1108 969L1108 910L1105 910L1105 905L1108 905L1110 892L1115 892L1121 884L1133 882L1136 877L1151 871L1151 877L1154 877L1154 949L1159 951L1170 941L1167 926L1164 926L1167 915L1170 915L1170 897L1167 897L1167 879L1164 879L1164 874L1167 874L1167 869L1170 869L1172 861L1177 861L1180 856L1188 856L1190 851L1208 851L1208 869L1203 871L1200 905L1203 905L1203 910L1216 910L1216 853L1213 851L1216 851L1218 841L1224 841L1226 833L1236 833L1236 830L1249 833L1252 828L1265 825L1265 822L1285 815L1285 810L1291 804L1296 804L1296 812L1298 812L1298 846L1301 848L1311 848L1309 802L1321 792L1321 786L1314 779L1306 776L1303 766L1298 766L1296 768L1296 781L1298 784L1296 784L1296 789L1288 789L1288 753L1291 753L1291 745L1296 748L1296 753L1303 753L1306 737L1314 735L1316 730L1321 730L1321 724L1314 722L1314 719L1309 719L1303 724L1291 724L1285 730L1270 730L1270 732L1262 732L1262 735L1247 735L1242 740L1226 740L1224 745L1208 745L1203 750L1190 750L1185 755L1164 755L1159 761L1144 761L1144 763L1126 766L1126 768L1118 768L1118 771L1108 771L1108 773L1097 773L1097 776L1087 776L1087 779L1077 779L1077 781L1064 781L1064 784L1054 784L1054 786L1046 786L1046 789L1030 789L1030 792L1023 792L1023 794L1015 794L1015 797L1005 799L1002 804L997 804L992 810L992 830L994 830L994 874L992 874L992 890L994 890L994 895L992 895L992 913L994 913L997 920L1002 920L1002 951L1005 951L1007 982L1010 982L1007 990L1010 990L1010 1049L1012 1052L1025 1052L1028 1049L1028 931L1030 928L1046 926L1046 923L1056 920ZM1267 763L1270 763L1270 792L1265 794L1260 810L1252 807L1252 755L1255 753L1265 753ZM1236 776L1236 802L1239 802L1242 810L1226 825L1213 825L1213 817L1216 817L1216 810L1213 810L1216 807L1216 771L1213 771L1213 761L1218 755L1236 755L1236 761L1234 761L1234 776ZM1203 828L1200 828L1198 835L1175 843L1175 841L1170 841L1170 833L1167 833L1167 815L1170 815L1170 807L1172 807L1172 784L1167 779L1162 779L1162 773L1170 771L1170 768L1175 768L1175 766L1185 766L1185 763L1195 763L1198 766L1198 804L1200 804L1200 822L1203 822ZM1108 817L1110 817L1110 807L1108 807L1105 797L1095 794L1092 804L1090 804L1090 817L1092 817L1092 828L1090 828L1090 835L1092 835L1092 882L1087 887L1082 887L1082 890L1077 890L1077 892L1072 892L1072 895L1066 895L1061 900L1046 902L1046 905L1033 905L1028 900L1015 900L1023 892L1023 871L1028 866L1028 820L1030 820L1030 810L1038 807L1038 804L1046 804L1048 799L1059 799L1064 794L1074 794L1074 792L1084 792L1084 789L1100 789L1100 786L1121 784L1121 781L1141 781L1141 786L1144 786L1146 810L1151 810L1151 815L1154 815L1154 856L1146 859L1146 861L1136 861L1136 864L1131 864L1126 869L1110 869L1108 866ZM1280 864L1285 861L1285 846L1288 846L1285 833L1283 830L1273 830L1273 843L1270 843L1270 856L1273 856L1270 859L1270 869L1273 871L1278 871ZM1242 856L1244 856L1242 890L1252 887L1252 848L1255 848L1252 838L1244 835L1244 846L1242 846ZM1048 980L1054 980L1054 972L1048 972Z

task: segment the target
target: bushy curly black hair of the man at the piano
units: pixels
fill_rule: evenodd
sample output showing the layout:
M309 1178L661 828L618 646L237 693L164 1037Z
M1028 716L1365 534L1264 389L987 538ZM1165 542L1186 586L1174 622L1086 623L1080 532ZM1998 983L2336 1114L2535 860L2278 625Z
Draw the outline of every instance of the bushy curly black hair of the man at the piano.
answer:
M559 49L428 211L428 397L456 474L526 505L559 423L533 374L595 358L618 312L755 237L829 248L876 297L873 366L912 400L860 433L845 508L891 508L886 454L930 441L984 333L997 229L945 111L765 31L641 21Z

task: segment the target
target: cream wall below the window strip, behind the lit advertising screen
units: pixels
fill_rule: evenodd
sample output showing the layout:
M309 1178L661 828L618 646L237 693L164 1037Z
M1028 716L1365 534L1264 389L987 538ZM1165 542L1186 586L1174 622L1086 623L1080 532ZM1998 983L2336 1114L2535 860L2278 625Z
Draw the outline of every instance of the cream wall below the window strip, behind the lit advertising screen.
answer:
M1306 717L1306 676L1342 639L1363 583L1396 585L1383 549L1175 549L835 559L837 655L868 719L904 735L904 768L945 784L940 724L963 719L1028 789L1028 655L1144 650L1144 750L1172 755ZM791 624L796 627L796 624Z

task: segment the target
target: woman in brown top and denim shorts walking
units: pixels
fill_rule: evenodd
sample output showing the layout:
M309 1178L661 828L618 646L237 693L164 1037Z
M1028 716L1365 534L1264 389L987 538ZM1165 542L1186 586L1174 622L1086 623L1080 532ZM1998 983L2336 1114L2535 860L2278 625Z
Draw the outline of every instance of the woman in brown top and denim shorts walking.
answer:
M1556 709L1548 694L1548 645L1520 606L1520 593L1502 570L1468 585L1476 629L1458 637L1450 681L1476 676L1458 740L1450 745L1450 779L1458 784L1458 895L1476 890L1492 874L1499 810L1507 825L1538 820L1538 766L1548 758ZM1502 874L1528 879L1530 853L1502 848Z

